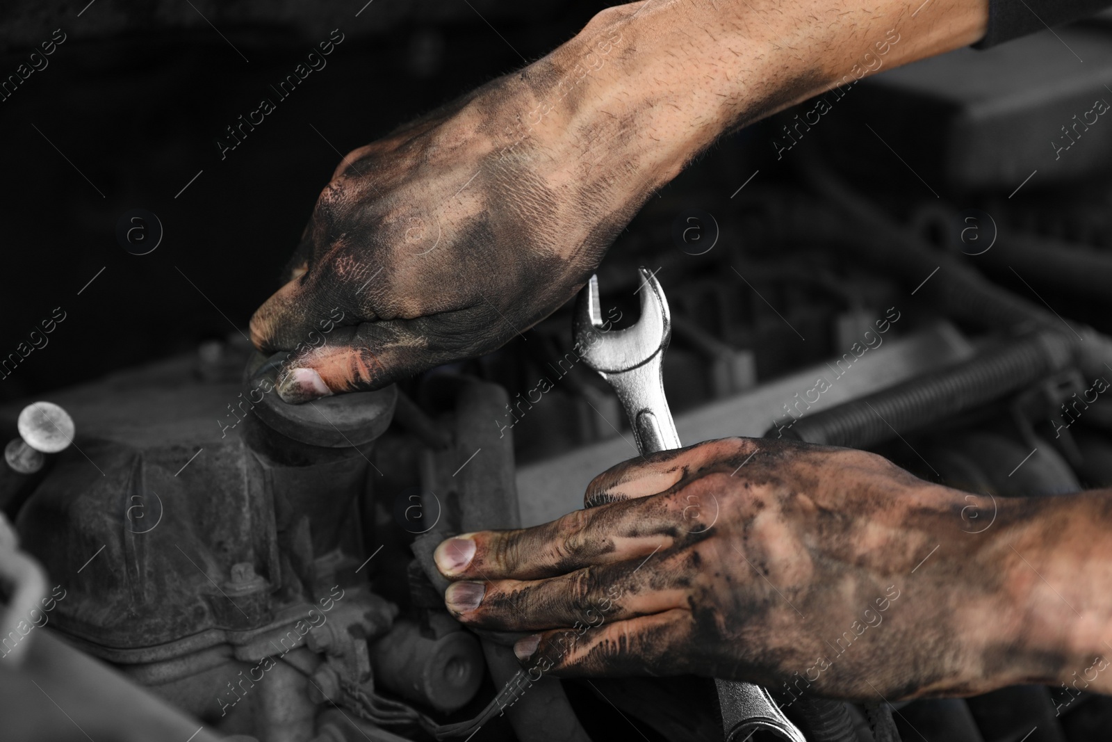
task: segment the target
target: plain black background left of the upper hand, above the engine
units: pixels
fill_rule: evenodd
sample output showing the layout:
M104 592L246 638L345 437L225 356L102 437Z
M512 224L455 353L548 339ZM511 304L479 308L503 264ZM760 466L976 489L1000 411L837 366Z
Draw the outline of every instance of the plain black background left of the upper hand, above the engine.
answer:
M520 67L515 49L543 56L608 3L375 0L358 18L361 1L302 3L275 19L267 3L195 2L219 33L185 0L97 0L78 18L83 4L2 11L3 76L54 29L68 38L0 101L0 355L54 307L67 318L0 380L0 399L195 350L235 334L230 323L246 329L340 154ZM285 100L269 92L277 110L221 160L225 127L335 28L346 38L327 67ZM117 241L133 208L162 224L149 255Z

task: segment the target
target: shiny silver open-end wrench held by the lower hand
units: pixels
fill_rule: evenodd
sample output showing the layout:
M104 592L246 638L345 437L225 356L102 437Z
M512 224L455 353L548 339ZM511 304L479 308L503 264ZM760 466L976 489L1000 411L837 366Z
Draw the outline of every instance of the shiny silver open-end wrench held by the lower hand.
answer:
M622 400L637 449L651 454L679 448L679 435L664 396L661 362L672 339L668 303L656 277L641 268L641 317L619 330L603 330L598 278L579 293L574 334L579 357L598 372ZM752 683L715 680L726 742L741 742L753 732L773 732L791 742L806 742L798 728L784 716L765 689Z

